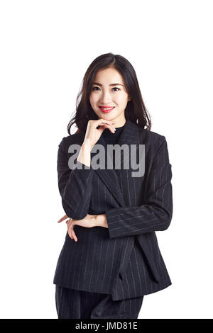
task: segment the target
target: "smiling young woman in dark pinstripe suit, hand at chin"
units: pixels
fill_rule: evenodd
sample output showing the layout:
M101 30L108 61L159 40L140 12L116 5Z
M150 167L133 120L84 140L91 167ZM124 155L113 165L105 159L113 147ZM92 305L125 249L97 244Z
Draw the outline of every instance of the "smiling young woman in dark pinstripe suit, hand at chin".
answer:
M167 142L151 131L121 55L97 57L80 96L58 149L58 222L68 218L53 281L58 318L137 318L144 295L172 284L155 235L173 215Z

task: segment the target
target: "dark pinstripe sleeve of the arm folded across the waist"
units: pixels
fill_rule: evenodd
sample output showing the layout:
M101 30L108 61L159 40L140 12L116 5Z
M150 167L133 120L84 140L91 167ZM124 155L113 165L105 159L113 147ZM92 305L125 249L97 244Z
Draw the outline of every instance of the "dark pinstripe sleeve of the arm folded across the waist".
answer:
M165 137L161 135L159 141L144 204L106 212L110 238L140 235L169 227L173 215L172 169Z

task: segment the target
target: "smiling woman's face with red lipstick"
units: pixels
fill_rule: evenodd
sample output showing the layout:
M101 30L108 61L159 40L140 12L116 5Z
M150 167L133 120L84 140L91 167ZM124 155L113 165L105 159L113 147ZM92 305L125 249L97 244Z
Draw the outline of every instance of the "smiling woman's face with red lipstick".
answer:
M124 87L123 77L116 69L99 69L94 77L89 101L99 119L113 120L115 127L126 123L124 110L130 98ZM100 108L101 106L114 108L107 111Z

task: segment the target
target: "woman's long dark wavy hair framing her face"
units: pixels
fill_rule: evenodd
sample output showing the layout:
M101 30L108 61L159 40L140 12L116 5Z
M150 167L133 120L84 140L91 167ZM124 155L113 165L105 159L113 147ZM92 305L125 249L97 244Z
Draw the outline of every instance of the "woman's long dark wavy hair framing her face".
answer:
M121 74L124 79L126 91L129 96L131 96L131 100L127 103L124 111L125 118L133 121L133 123L137 123L141 128L151 130L151 118L143 103L141 90L133 66L121 55L106 53L94 59L89 65L87 72L84 74L82 88L77 95L76 112L67 125L67 132L69 134L71 134L70 128L73 124L77 125L77 132L84 132L87 129L88 120L99 119L90 105L89 96L97 71L109 67L114 67L114 69Z

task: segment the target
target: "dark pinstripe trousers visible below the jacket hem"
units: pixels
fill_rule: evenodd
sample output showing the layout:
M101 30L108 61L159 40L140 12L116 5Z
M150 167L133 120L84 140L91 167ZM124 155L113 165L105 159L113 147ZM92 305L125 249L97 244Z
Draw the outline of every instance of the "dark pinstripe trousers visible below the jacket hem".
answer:
M111 295L55 285L58 319L137 319L143 296L112 300Z

